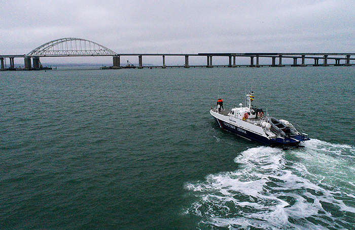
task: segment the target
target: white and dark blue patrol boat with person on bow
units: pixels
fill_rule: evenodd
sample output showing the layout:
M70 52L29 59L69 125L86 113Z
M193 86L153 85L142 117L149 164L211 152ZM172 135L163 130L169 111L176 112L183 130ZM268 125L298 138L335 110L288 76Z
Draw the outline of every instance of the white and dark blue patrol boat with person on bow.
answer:
M254 92L246 95L246 107L240 103L230 111L211 107L210 114L221 128L247 140L271 147L303 147L301 142L310 140L308 134L298 131L289 121L269 117L262 109L252 106ZM219 104L219 103L217 103ZM300 130L302 130L299 127Z

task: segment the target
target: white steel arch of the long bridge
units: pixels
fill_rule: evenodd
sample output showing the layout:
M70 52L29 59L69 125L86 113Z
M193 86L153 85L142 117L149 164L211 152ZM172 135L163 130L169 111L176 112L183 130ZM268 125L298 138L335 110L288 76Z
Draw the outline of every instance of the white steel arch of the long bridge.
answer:
M59 38L49 41L32 50L27 56L60 57L60 56L115 56L114 51L103 45L76 37Z

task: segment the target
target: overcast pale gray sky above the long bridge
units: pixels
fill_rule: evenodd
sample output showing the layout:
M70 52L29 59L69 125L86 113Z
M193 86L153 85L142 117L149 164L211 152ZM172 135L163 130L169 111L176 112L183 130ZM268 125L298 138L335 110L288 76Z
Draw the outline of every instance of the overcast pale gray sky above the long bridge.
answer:
M354 53L354 9L353 0L3 0L0 54L63 37L116 53Z

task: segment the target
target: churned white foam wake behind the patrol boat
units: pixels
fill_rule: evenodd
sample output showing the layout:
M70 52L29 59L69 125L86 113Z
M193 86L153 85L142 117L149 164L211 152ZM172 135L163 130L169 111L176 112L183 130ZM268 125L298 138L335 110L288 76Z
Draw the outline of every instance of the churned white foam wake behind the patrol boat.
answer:
M341 215L355 214L355 208L343 202L355 202L351 195L355 170L347 167L355 157L354 147L319 140L305 146L291 151L251 148L234 159L241 169L188 183L185 188L200 196L189 213L200 216L201 224L230 229L341 228L344 220L333 215L327 204Z

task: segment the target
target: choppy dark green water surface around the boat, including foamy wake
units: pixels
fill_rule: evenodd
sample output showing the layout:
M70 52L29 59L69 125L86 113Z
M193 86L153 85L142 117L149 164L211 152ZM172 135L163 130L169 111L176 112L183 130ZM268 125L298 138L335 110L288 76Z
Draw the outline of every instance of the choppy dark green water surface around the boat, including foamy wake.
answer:
M2 229L354 229L353 67L0 72ZM209 115L255 105L305 148Z

